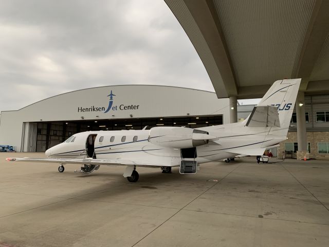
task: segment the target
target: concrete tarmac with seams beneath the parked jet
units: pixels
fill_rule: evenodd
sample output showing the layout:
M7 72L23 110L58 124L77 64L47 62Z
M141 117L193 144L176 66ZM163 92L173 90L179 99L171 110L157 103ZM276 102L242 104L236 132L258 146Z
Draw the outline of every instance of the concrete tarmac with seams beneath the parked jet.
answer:
M60 173L8 156L44 154L0 153L0 246L329 246L327 161L138 168L129 183L122 166Z

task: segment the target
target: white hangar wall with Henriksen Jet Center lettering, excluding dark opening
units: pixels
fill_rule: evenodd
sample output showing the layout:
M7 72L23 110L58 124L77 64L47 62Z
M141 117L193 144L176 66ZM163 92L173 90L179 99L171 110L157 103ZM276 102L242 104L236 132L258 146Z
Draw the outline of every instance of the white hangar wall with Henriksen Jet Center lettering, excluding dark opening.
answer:
M111 91L112 100L108 96ZM107 111L109 104L112 105ZM218 99L215 93L207 91L156 85L93 87L53 96L17 111L2 112L0 144L16 146L17 151L20 151L23 126L27 128L28 122L82 120L82 117L84 120L177 117L189 114L223 115L223 123L229 123L229 111L228 99ZM24 133L28 134L26 128Z

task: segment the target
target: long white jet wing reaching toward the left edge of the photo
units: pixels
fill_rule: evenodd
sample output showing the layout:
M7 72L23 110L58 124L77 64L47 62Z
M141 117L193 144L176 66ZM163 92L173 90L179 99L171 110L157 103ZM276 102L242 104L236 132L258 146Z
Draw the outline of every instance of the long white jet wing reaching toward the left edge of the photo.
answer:
M15 162L41 162L41 163L58 163L58 164L80 164L80 165L107 165L107 166L143 166L143 167L161 167L165 162L157 163L146 160L127 160L125 158L100 159L100 158L6 158L6 161ZM168 165L171 166L171 165Z

